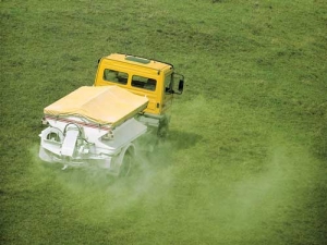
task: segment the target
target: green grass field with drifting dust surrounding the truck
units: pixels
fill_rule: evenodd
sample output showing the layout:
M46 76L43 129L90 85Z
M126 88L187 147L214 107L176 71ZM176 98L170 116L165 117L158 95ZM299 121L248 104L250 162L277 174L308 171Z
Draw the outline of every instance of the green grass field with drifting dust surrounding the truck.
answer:
M0 1L1 244L326 244L324 0ZM126 52L186 77L112 180L38 157L43 109Z

